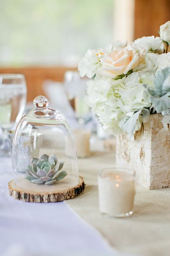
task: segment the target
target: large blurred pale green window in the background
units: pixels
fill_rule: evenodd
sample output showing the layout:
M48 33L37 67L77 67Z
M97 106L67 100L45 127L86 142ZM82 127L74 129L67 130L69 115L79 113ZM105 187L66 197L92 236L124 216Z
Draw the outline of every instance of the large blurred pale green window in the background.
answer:
M0 0L0 65L76 66L113 41L114 0Z

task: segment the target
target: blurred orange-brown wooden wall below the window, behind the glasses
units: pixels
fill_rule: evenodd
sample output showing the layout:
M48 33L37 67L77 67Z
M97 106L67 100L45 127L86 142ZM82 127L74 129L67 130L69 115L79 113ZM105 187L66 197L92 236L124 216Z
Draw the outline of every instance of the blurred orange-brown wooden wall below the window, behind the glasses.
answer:
M63 81L67 70L75 70L68 67L8 67L1 68L0 73L18 73L26 77L27 101L32 101L37 95L45 95L42 90L42 82L46 79Z

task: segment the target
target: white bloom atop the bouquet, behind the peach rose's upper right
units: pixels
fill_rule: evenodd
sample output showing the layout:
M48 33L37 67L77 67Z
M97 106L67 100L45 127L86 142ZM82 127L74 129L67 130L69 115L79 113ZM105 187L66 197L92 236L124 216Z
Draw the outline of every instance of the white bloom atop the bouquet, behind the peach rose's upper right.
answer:
M136 39L132 42L132 46L136 51L141 51L145 49L146 52L156 51L161 47L162 41L159 37L144 36L142 38Z

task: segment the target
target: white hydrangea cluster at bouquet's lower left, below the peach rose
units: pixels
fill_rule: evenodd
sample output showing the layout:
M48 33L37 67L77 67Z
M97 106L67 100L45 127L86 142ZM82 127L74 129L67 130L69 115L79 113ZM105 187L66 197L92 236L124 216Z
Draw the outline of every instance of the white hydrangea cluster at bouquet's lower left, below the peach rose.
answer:
M114 135L122 133L118 124L126 116L118 91L119 87L124 87L124 81L125 78L113 80L97 77L88 83L86 102L99 117L103 128Z

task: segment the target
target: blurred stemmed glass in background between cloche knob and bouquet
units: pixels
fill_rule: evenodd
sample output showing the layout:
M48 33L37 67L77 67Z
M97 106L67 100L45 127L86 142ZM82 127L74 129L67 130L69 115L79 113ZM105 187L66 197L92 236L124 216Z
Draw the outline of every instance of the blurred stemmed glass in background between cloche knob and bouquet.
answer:
M81 78L77 71L65 73L64 87L80 125L84 125L91 115L90 109L85 103L87 81L88 78Z

